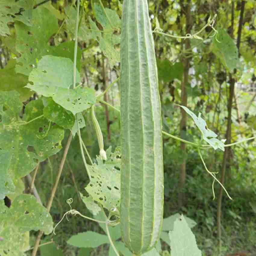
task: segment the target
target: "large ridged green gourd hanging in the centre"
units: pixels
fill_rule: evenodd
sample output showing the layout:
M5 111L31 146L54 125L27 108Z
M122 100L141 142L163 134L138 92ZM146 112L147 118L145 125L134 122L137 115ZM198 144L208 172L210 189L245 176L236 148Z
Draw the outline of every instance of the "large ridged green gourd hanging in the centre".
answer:
M161 104L147 0L124 0L121 33L121 207L134 255L159 239L164 202Z

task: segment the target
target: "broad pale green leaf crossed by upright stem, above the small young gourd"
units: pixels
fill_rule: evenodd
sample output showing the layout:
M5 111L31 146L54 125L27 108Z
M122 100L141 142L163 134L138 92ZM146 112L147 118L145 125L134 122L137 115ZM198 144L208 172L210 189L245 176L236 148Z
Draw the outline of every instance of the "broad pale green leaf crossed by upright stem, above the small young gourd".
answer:
M96 102L95 92L91 88L77 87L73 84L73 62L69 58L44 56L38 67L29 75L33 82L26 87L52 99L75 115L91 107ZM76 72L76 81L80 83L80 74Z

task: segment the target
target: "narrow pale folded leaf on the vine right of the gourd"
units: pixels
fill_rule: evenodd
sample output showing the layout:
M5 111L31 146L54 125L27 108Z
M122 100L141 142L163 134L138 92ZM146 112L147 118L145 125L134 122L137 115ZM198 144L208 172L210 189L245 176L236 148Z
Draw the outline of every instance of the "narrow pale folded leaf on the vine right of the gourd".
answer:
M196 126L199 128L199 130L201 131L201 133L203 135L203 139L206 142L208 142L211 145L211 147L213 147L215 150L217 148L219 148L222 151L224 151L224 143L221 140L216 139L217 134L207 128L206 122L201 118L201 113L199 113L198 117L197 117L188 108L181 106L181 105L178 105L178 106L183 108L193 118Z

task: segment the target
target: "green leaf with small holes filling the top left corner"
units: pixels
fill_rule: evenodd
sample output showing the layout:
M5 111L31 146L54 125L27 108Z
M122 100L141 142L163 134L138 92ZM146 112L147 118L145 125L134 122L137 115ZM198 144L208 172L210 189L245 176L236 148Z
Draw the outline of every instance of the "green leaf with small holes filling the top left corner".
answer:
M8 22L19 20L24 24L31 26L33 0L1 0L0 1L0 35L11 34ZM23 10L20 13L20 10Z

